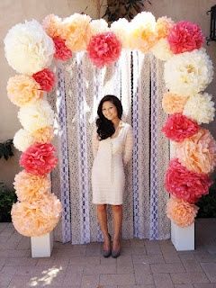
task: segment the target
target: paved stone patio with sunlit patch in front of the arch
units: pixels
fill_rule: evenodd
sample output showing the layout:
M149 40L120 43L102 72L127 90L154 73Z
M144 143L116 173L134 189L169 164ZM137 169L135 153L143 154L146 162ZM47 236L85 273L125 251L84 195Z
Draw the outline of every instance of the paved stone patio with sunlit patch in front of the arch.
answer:
M55 242L51 257L31 258L30 239L0 223L0 288L216 288L216 219L196 220L196 250L169 240L125 240L121 257L101 245Z

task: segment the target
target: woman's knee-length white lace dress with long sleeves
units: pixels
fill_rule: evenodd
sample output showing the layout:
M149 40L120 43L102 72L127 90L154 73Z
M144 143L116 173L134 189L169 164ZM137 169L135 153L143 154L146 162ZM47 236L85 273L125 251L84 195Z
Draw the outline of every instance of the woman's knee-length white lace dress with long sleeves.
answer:
M118 135L99 140L92 137L94 163L92 168L93 203L121 205L124 192L124 168L132 156L133 136L130 124L121 122Z

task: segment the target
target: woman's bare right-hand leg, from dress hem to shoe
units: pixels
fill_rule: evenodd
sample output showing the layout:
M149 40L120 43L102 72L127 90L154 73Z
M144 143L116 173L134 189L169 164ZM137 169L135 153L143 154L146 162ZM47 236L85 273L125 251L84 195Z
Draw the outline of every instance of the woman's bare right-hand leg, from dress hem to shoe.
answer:
M120 250L121 223L122 223L122 205L112 205L114 235L112 240L112 249Z

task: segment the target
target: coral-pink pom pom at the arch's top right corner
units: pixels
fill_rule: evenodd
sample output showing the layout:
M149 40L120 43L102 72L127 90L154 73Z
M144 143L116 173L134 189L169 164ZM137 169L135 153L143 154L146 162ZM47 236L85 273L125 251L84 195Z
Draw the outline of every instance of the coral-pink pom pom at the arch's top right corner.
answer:
M174 54L200 49L204 41L201 28L187 21L176 23L167 39Z

